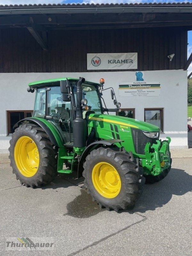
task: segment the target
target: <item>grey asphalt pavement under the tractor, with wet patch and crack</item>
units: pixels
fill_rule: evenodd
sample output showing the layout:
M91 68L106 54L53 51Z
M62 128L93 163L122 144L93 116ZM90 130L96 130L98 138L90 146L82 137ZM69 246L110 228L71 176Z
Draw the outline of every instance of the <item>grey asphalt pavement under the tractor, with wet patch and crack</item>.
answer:
M20 185L9 164L0 164L0 173L2 256L192 255L192 158L173 158L167 177L146 184L135 208L119 213L92 202L78 184L83 180L60 175L32 189ZM6 247L12 237L51 239L53 246L17 251Z

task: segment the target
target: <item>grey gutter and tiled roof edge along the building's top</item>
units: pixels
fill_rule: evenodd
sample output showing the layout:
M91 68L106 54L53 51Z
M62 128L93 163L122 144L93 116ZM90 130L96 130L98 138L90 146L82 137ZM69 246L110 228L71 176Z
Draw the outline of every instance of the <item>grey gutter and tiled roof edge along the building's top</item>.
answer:
M0 5L0 15L75 13L192 13L192 3L178 4L30 4Z

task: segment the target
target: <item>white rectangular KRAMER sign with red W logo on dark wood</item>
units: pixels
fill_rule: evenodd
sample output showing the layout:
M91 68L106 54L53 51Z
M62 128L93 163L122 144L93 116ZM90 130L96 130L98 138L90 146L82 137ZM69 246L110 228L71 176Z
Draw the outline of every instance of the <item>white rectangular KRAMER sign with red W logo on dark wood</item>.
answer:
M87 53L87 70L137 69L137 52Z

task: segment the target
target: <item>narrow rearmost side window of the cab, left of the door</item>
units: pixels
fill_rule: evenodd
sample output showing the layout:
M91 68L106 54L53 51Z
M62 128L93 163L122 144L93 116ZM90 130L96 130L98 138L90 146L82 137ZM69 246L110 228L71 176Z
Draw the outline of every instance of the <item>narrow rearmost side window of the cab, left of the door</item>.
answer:
M33 116L44 117L46 109L46 89L40 88L36 90L35 106Z

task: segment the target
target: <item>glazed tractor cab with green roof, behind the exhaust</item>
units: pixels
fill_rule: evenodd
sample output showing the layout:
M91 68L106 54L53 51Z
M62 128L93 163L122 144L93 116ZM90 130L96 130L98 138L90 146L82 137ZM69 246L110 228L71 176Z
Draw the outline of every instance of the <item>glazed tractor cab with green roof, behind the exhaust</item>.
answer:
M61 93L61 84L64 82L65 93ZM73 144L73 120L76 118L77 104L77 82L72 78L61 78L57 81L45 80L29 84L31 90L36 90L35 106L33 117L45 118L49 120L59 131L63 143ZM82 84L83 106L82 117L86 118L87 111L92 113L103 113L100 94L98 90L100 84L84 82ZM67 93L66 93L67 92Z

